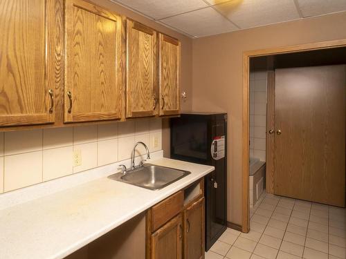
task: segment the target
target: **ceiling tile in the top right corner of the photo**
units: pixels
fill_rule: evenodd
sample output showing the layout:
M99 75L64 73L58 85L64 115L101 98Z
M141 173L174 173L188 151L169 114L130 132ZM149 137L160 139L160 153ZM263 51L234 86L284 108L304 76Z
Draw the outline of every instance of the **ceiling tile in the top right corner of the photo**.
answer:
M346 0L298 0L304 17L346 11Z

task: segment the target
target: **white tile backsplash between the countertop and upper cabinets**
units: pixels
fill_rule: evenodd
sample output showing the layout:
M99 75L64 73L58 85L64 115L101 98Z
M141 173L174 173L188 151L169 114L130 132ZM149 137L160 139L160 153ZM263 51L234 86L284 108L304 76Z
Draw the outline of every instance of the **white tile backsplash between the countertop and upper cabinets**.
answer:
M151 118L0 133L0 193L128 159L135 141L159 151L161 124ZM81 152L80 166L73 166L73 151ZM136 155L144 151L138 146Z

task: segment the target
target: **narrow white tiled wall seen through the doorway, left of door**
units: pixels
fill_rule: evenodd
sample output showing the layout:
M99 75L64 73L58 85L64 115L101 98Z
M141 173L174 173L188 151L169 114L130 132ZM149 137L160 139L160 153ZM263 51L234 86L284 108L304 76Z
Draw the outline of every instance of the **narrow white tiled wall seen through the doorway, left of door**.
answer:
M262 161L266 161L266 74L250 74L250 157Z

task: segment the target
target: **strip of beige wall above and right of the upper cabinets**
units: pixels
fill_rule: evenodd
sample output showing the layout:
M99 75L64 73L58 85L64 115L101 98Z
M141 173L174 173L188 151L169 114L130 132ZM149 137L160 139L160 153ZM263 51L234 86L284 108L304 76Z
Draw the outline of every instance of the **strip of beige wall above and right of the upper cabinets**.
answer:
M189 95L192 92L192 39L182 35L179 32L171 30L165 26L162 26L155 21L149 20L142 15L138 15L136 12L132 12L129 9L126 9L116 3L113 3L109 0L89 0L93 3L98 4L99 6L103 6L108 8L109 10L113 10L118 15L125 15L131 19L139 21L154 30L158 30L158 32L163 32L171 37L179 39L181 41L181 80L180 86L181 91L185 91ZM190 110L192 107L192 100L188 99L186 102L181 102L181 108L183 110Z

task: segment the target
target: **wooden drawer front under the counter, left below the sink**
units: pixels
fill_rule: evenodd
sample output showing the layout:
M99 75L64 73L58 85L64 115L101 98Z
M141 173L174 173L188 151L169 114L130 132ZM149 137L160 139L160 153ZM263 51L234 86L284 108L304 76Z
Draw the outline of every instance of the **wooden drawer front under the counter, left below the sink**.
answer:
M180 213L184 205L184 193L179 191L152 207L152 232Z

